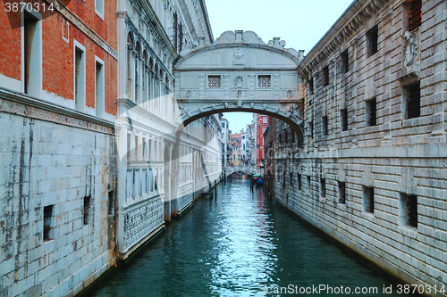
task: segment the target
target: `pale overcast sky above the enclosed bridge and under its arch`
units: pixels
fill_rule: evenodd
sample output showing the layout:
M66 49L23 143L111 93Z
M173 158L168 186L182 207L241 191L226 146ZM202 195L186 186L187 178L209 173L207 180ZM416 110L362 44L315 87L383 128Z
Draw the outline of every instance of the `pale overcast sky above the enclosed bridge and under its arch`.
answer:
M352 0L206 0L209 21L217 39L227 30L251 30L265 43L273 37L286 48L308 54L350 6ZM226 112L232 132L253 119L251 113Z

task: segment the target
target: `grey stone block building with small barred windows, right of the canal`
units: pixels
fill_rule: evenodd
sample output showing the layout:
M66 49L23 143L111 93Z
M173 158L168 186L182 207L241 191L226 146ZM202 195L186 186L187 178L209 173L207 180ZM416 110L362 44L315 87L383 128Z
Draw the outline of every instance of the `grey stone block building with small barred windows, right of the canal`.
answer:
M351 4L299 65L304 137L278 121L268 141L276 201L401 281L437 288L447 286L446 5Z

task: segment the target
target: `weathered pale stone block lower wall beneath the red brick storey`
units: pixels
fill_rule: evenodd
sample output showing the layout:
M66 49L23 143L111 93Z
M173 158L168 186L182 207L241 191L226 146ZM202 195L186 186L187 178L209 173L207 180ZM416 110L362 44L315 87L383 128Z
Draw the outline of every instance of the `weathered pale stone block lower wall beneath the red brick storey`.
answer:
M116 260L113 128L9 96L17 101L0 99L0 294L79 293Z

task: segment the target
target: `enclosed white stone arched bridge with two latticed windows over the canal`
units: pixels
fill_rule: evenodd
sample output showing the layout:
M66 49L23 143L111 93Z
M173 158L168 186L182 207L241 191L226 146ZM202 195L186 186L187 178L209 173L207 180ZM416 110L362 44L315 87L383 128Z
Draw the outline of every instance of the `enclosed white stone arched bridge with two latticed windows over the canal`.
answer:
M177 135L194 120L228 111L272 115L301 134L304 55L284 45L279 37L266 44L255 32L237 30L182 51L173 69Z

